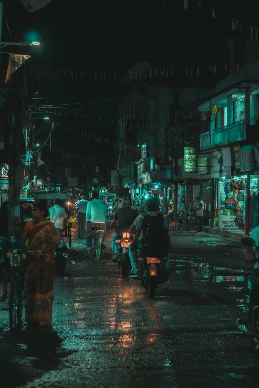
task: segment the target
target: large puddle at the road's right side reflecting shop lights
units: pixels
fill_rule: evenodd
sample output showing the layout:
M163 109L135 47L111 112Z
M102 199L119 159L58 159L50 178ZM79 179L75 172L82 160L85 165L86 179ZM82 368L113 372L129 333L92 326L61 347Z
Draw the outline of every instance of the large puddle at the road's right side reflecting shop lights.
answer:
M172 268L173 267L173 268ZM208 263L197 263L192 259L174 259L170 261L170 268L186 279L199 283L226 282L229 289L242 290L247 287L250 272L244 269L217 267ZM243 283L243 284L241 284Z

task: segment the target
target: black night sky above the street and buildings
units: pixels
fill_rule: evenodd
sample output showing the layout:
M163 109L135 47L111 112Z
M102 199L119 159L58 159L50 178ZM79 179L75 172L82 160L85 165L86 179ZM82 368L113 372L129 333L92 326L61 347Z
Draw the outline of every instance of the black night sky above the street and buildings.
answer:
M200 10L198 3L188 0L188 9L184 10L184 0L53 0L44 9L31 13L18 0L5 0L9 30L4 15L2 40L32 39L42 43L39 47L8 47L12 52L32 56L26 63L28 70L107 69L118 74L116 80L107 76L105 81L27 77L29 98L39 92L41 98L47 99L44 103L49 104L116 100L125 92L120 84L122 70L136 62L148 61L154 67L157 60L161 67L223 65L228 60L225 38L250 39L250 26L258 27L259 7L250 6L250 0L200 1ZM232 18L242 20L242 32L232 31ZM1 71L7 60L8 55L2 55ZM117 101L76 107L86 114L99 114L102 120L58 117L59 120L115 138L116 126L110 118L116 120ZM104 118L106 114L110 123ZM71 134L65 139L61 135L57 130L53 142L66 151L73 144L82 153L87 147L91 148L87 152L107 152L107 147L102 150L96 144L75 140ZM109 160L112 163L112 157Z

